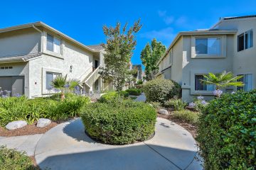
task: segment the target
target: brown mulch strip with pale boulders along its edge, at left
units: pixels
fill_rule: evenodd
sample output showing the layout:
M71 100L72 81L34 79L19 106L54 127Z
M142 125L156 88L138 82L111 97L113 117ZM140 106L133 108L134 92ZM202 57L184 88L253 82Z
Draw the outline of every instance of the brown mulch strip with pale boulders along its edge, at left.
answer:
M32 125L26 125L23 128L19 128L16 130L6 130L6 128L0 127L0 136L1 137L14 137L14 136L23 136L23 135L36 135L36 134L42 134L50 130L51 128L58 125L60 122L52 122L50 125L44 127L44 128L37 128L36 123L33 123Z

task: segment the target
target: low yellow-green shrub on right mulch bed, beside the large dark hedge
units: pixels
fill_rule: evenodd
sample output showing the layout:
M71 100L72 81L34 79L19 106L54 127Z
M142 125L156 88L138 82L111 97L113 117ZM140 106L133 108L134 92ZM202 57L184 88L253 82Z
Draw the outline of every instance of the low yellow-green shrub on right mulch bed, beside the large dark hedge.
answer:
M188 111L188 110L181 110L181 111L174 111L173 116L174 118L181 119L186 123L191 124L198 124L200 113Z

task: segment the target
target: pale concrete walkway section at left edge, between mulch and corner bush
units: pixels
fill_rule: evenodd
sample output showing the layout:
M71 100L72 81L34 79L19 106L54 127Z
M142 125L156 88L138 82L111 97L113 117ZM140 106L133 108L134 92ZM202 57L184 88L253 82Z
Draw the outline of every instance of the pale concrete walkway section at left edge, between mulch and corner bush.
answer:
M6 145L11 149L16 148L18 151L24 151L28 156L33 156L35 153L38 140L43 134L26 135L18 137L0 137L0 145Z

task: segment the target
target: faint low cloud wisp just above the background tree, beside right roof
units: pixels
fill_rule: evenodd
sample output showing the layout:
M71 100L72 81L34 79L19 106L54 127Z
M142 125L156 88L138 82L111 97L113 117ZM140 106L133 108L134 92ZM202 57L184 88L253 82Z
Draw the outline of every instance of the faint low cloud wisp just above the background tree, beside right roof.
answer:
M141 33L140 36L142 38L147 38L152 40L156 38L156 40L163 42L165 45L169 45L171 41L174 39L174 29L171 27L163 28L161 30L151 30L146 33Z

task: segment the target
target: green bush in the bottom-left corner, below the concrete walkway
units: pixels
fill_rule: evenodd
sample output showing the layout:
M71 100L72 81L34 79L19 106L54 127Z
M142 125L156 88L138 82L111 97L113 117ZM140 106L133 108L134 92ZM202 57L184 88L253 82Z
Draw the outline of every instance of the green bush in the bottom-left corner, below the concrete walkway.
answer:
M26 156L25 152L18 152L16 149L7 149L0 147L0 169L38 169L33 162Z

